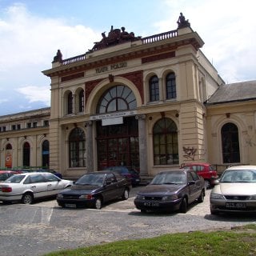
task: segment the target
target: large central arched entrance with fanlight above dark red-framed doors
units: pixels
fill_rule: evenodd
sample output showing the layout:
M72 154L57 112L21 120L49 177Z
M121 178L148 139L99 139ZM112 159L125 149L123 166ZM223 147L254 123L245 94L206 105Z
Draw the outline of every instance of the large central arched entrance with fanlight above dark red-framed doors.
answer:
M113 86L102 94L97 114L113 115L108 122L96 122L98 170L120 165L139 169L138 120L134 116L113 118L120 111L136 107L136 98L128 86Z

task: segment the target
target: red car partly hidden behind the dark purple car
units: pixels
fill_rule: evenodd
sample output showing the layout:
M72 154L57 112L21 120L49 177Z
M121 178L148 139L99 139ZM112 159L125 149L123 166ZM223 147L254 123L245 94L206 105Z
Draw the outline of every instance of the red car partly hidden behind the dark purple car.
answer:
M199 176L202 176L207 189L213 187L214 181L218 179L216 168L208 162L190 162L182 165L182 168L190 168L196 171Z

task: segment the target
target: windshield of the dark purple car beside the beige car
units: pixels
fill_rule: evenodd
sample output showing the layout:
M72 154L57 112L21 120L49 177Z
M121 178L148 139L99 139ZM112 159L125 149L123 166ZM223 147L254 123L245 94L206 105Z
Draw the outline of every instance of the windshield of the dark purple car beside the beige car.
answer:
M185 183L186 183L185 173L173 172L173 173L157 174L153 178L150 184L162 185L162 184L185 184Z

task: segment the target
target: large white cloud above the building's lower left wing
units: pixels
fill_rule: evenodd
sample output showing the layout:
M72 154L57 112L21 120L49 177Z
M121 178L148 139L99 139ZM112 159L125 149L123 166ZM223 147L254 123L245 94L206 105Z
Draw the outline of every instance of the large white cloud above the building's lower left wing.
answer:
M50 106L50 78L41 71L51 68L58 49L63 58L84 54L100 33L82 25L66 25L65 20L34 16L22 4L10 6L2 17L0 87L8 88L7 94L15 90L27 98L26 108L31 102ZM20 88L22 84L27 86ZM10 101L11 96L6 98Z

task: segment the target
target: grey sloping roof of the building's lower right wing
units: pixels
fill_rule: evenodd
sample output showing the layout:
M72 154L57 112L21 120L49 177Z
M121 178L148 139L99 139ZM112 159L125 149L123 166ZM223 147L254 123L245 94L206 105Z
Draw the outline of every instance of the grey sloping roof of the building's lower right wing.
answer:
M206 105L256 99L256 80L224 84L206 101Z

